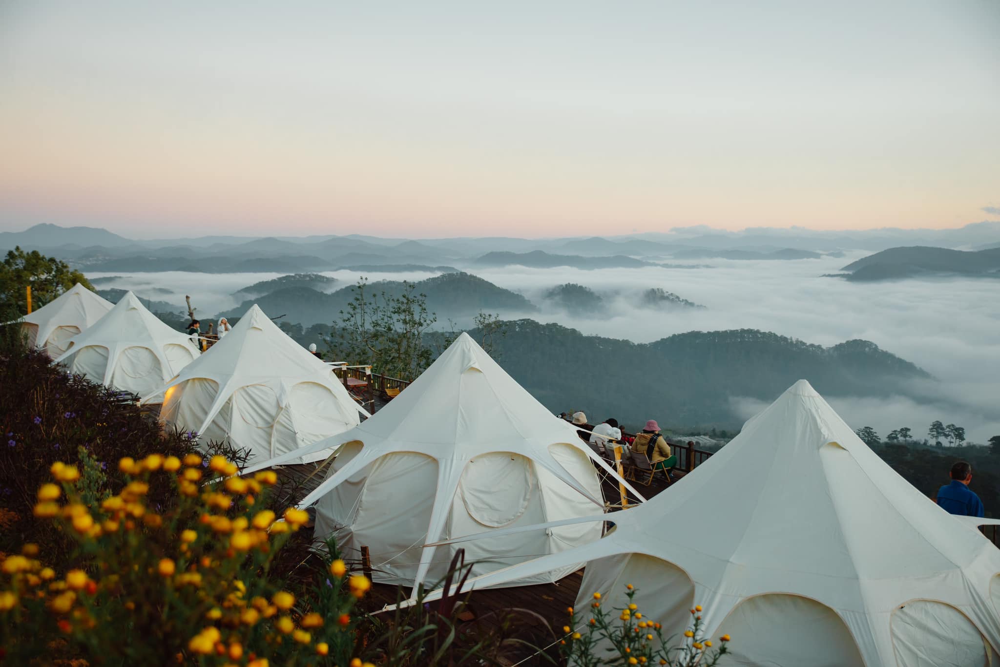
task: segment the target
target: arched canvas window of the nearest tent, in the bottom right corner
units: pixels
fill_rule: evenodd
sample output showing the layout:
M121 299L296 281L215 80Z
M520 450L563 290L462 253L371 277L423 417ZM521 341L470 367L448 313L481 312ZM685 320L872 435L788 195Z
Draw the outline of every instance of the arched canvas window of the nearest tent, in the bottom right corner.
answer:
M892 613L892 647L898 667L985 667L986 642L951 605L913 600Z

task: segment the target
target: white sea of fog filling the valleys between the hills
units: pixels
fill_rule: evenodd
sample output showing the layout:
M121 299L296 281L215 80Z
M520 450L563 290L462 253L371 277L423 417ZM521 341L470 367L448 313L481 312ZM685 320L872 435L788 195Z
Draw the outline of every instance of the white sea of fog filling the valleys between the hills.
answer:
M919 365L934 376L921 383L921 400L897 396L872 400L851 396L827 399L855 428L872 426L881 435L909 426L922 435L934 419L965 426L971 441L1000 434L1000 281L947 278L852 283L822 277L865 256L793 261L699 260L711 268L578 270L502 267L472 273L521 292L542 306L540 313L501 313L558 322L587 334L649 342L685 331L751 328L829 346L852 338L870 340ZM677 260L666 260L677 262ZM102 275L94 273L92 277ZM184 272L125 274L108 287L135 289L144 297L183 304L190 294L199 315L208 317L239 305L232 293L274 273L201 274ZM336 271L335 289L358 278ZM366 272L369 280L422 280L436 274ZM574 282L605 297L607 306L591 316L546 307L542 293ZM661 287L705 309L639 311L639 292ZM171 290L170 295L151 288ZM180 307L178 308L180 310ZM586 360L581 360L586 361ZM808 378L806 378L808 379ZM910 387L908 393L913 393ZM749 417L764 403L734 398Z

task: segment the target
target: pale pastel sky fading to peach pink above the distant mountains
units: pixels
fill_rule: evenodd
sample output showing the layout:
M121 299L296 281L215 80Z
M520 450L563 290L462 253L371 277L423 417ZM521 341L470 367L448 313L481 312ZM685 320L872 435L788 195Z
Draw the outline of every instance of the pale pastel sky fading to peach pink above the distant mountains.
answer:
M0 4L0 229L957 227L1000 3Z

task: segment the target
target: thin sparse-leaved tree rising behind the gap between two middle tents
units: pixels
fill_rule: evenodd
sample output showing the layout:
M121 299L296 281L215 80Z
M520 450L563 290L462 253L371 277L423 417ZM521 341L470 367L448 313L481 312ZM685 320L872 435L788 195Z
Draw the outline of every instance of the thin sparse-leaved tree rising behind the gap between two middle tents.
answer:
M371 364L383 375L413 380L430 365L431 348L424 334L437 321L427 311L427 296L416 285L403 283L399 294L375 293L362 278L351 288L353 297L340 311L334 354L355 364Z

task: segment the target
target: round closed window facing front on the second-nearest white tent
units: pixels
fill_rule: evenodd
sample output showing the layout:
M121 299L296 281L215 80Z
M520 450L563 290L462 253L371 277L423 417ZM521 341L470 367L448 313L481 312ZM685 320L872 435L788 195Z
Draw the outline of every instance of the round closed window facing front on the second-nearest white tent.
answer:
M531 502L534 489L531 461L511 452L490 452L470 460L458 484L465 511L489 528L516 521Z

